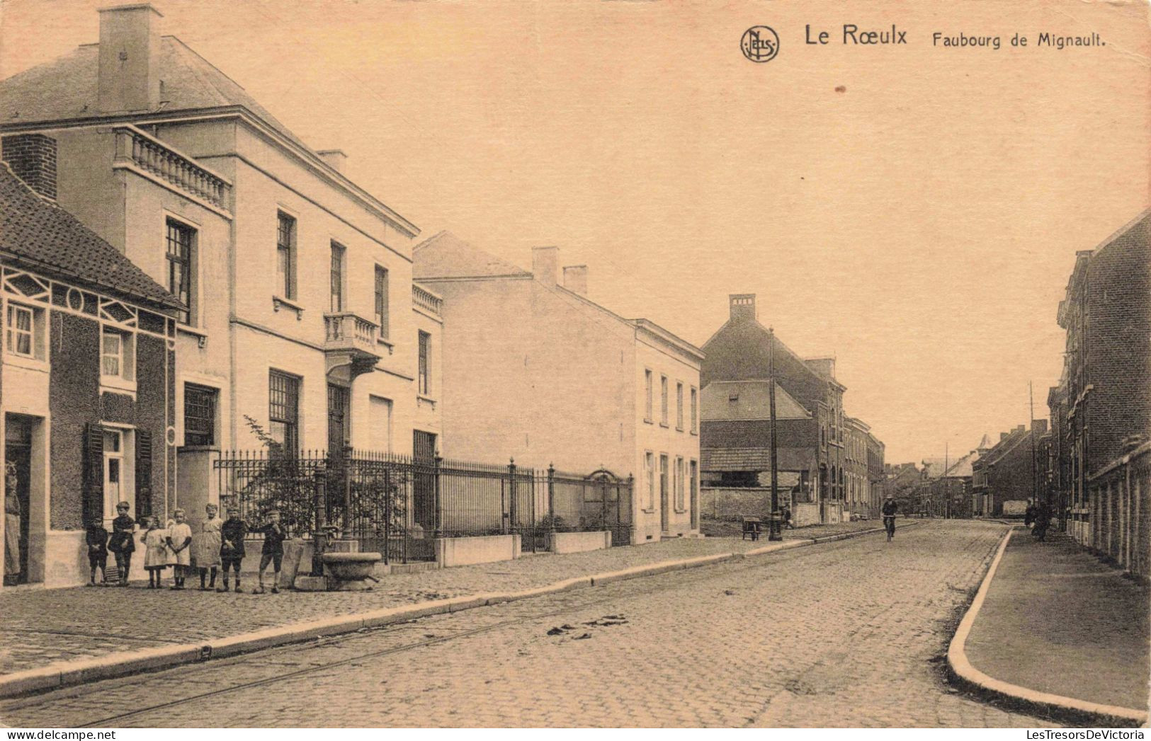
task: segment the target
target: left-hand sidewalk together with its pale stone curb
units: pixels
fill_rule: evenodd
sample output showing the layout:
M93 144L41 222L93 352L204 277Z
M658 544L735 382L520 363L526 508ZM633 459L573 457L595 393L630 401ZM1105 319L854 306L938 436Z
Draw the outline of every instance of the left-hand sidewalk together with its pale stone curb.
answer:
M487 604L708 566L882 528L817 526L783 542L683 538L386 576L372 591L129 589L0 594L0 697L234 656Z

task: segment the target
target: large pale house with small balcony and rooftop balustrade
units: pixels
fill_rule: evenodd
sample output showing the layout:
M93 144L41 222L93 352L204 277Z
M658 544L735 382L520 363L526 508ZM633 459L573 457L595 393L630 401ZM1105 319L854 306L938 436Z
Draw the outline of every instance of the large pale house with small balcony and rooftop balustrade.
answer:
M182 503L212 459L289 451L443 452L440 297L413 285L419 229L312 150L237 82L105 8L98 44L0 82L0 150L38 189L181 298L174 342ZM322 452L320 453L322 454Z

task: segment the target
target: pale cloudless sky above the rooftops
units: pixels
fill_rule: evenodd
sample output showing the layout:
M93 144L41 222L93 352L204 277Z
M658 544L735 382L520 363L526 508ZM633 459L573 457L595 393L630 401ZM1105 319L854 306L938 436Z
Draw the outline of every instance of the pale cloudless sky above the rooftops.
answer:
M0 0L0 77L97 41L108 5ZM422 237L523 266L557 245L590 298L696 345L756 293L796 353L837 358L890 463L1026 423L1029 383L1046 418L1075 252L1151 201L1144 3L153 5ZM769 62L740 52L753 25Z

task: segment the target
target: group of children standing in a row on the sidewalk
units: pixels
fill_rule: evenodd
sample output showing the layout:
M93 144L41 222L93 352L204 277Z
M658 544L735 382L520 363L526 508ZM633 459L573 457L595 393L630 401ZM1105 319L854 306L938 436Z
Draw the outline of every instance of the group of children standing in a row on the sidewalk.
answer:
M132 553L136 551L136 521L128 515L129 505L121 502L116 505L116 518L112 521L112 534L104 527L101 518L94 518L87 526L87 560L90 567L89 586L98 583L112 586L108 581L107 563L110 551L116 558L117 586L128 586L128 573L131 568ZM236 576L236 591L239 587L239 566L244 559L244 536L247 533L264 535L264 547L260 553L258 587L253 594L264 594L264 572L273 566L272 594L280 593L280 570L283 563L284 540L287 533L280 524L280 512L270 510L267 521L258 528L249 529L241 519L238 507L228 507L228 519L221 520L219 507L209 504L205 507L207 517L199 524L196 532L185 522L184 510L175 510L171 520L160 527L155 517L146 519L146 528L139 530L140 545L144 549L144 571L148 574L148 589L162 587L163 570L173 567L171 589L183 589L184 580L193 571L200 575L200 590L228 591L228 572ZM100 581L96 572L100 571ZM216 575L223 572L223 583L216 587ZM211 579L211 581L209 581Z

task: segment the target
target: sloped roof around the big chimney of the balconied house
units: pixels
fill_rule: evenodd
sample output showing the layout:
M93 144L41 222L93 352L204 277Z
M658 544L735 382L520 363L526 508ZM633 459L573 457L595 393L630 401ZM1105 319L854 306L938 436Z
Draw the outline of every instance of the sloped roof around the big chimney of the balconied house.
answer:
M100 45L84 44L70 54L0 82L0 121L35 123L60 119L100 117L97 70ZM234 79L174 36L160 39L160 105L140 113L171 113L243 106L269 127L308 148ZM127 112L124 112L127 113Z

